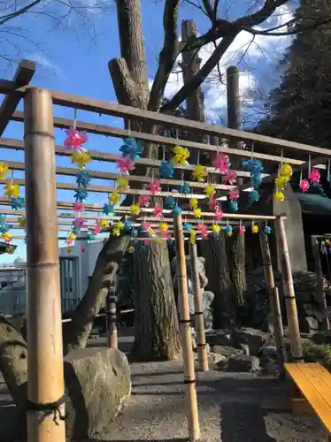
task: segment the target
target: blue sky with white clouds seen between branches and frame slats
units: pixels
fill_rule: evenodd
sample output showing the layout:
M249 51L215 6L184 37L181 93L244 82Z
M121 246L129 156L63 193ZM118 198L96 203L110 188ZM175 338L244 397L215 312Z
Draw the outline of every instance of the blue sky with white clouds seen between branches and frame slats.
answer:
M93 0L79 0L79 2L94 4ZM227 6L230 2L221 0L221 11L224 13L227 11L228 18L234 19L245 13L250 7L250 3L252 3L252 0L231 2L232 7L228 9ZM158 0L142 0L142 24L150 82L156 72L158 52L163 42L163 4L164 2ZM265 27L273 27L280 22L287 21L289 12L288 9L282 8L269 20ZM8 23L8 26L10 25L11 29L18 30L17 33L24 37L18 37L14 40L19 49L19 56L33 59L37 63L35 79L33 80L35 85L65 93L116 102L107 66L112 57L119 57L119 36L115 7L111 6L107 11L101 13L100 11L91 10L87 11L86 14L88 14L87 17L93 22L96 30L94 42L91 42L92 33L85 32L81 28L81 22L75 15L70 21L70 27L74 29L74 32L65 31L61 28L50 31L54 23L43 15L35 16L34 14L24 15L19 19L12 20ZM202 12L189 5L181 6L180 23L181 19L195 19L199 33L204 33L209 26L209 22ZM10 41L12 41L11 39L12 37L10 37ZM230 64L238 64L242 71L243 126L252 124L252 121L256 119L255 108L263 101L267 91L277 84L279 75L275 70L275 66L290 42L289 38L280 37L258 37L252 43L250 40L250 34L241 33L220 63L221 72L224 72L227 65ZM5 46L5 51L6 54L12 56L18 55L10 44ZM208 45L201 50L200 57L203 63L211 51L212 45ZM4 60L0 61L0 65L4 77L11 78L12 71L6 69ZM226 87L224 84L219 84L215 76L216 73L212 72L209 80L204 84L205 106L207 118L223 126L227 124L225 117ZM266 79L268 80L266 81ZM165 91L166 95L173 95L181 86L181 81L181 75L173 73ZM21 105L19 110L22 110ZM73 118L73 110L56 106L54 115ZM99 117L96 114L83 111L78 112L77 118L110 126L122 126L122 121L119 118ZM12 122L6 129L4 136L21 139L22 134L22 125ZM64 138L64 132L56 130L57 144L61 144ZM119 139L90 135L87 148L116 152L120 145L121 141ZM0 160L9 159L24 161L23 153L0 149ZM70 166L70 158L57 157L57 164ZM109 163L94 162L90 169L114 171L115 167ZM23 178L24 174L15 172L14 177ZM72 182L73 179L58 177L58 181ZM112 183L97 179L93 180L93 184L112 185ZM89 194L89 202L103 203L105 198L106 194ZM73 192L58 191L58 200L73 201ZM15 231L15 233L19 234L20 232ZM0 255L0 263L11 262L17 255L25 257L24 242L15 241L15 243L18 244L16 254L12 256Z

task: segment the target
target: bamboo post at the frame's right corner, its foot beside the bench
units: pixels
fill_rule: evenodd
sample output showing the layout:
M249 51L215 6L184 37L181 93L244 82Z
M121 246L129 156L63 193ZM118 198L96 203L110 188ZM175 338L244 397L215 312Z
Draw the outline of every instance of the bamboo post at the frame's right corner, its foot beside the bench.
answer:
M288 316L292 358L294 362L303 362L303 347L296 309L296 293L293 286L292 270L289 262L289 246L283 217L276 217L275 232L279 244L278 253L280 253L281 258L281 279Z

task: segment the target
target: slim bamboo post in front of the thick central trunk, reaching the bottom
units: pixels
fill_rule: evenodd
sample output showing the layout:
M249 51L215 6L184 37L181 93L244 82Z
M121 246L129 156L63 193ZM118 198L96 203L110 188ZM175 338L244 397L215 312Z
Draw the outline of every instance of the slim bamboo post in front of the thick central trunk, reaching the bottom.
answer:
M189 440L193 442L200 438L200 426L197 413L196 373L189 320L188 278L181 215L173 217L173 232L176 246L176 274L180 307L181 346L184 361L184 384L187 385L186 408L188 430Z

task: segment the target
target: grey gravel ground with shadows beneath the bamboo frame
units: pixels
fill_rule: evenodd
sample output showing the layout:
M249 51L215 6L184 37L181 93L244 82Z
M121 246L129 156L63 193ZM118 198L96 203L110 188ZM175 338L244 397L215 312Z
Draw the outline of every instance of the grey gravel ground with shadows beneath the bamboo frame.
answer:
M132 333L127 331L120 336L119 347L127 352L131 344ZM105 339L93 339L89 345L103 347ZM131 370L133 391L129 405L103 440L186 440L182 362L132 363ZM271 376L217 370L197 374L201 441L324 442L325 433L314 416L289 414L288 392L286 383ZM0 382L0 440L4 440L10 415L14 418L13 411L11 398Z

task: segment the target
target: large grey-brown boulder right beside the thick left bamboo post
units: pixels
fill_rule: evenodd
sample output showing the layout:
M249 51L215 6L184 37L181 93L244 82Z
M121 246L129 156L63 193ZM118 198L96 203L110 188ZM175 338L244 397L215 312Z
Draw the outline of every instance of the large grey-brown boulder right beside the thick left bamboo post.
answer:
M67 437L102 436L131 394L127 356L112 348L73 350L64 368Z

